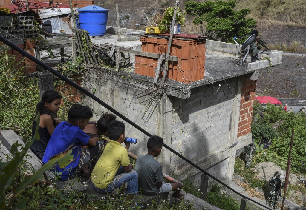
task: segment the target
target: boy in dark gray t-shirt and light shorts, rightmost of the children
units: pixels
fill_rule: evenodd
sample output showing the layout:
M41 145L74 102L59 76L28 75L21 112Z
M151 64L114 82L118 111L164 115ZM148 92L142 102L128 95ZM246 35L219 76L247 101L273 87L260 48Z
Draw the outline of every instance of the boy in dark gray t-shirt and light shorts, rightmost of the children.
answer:
M155 160L162 151L163 141L159 136L151 136L147 142L148 153L137 158L135 170L138 173L138 190L149 195L174 191L172 195L182 199L182 183L163 182L162 164Z

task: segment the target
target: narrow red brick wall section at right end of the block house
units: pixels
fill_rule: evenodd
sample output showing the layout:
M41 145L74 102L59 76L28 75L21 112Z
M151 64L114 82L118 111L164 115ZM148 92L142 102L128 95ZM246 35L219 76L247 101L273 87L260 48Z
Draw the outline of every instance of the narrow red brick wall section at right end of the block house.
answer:
M251 132L256 80L243 78L241 89L241 105L237 137Z

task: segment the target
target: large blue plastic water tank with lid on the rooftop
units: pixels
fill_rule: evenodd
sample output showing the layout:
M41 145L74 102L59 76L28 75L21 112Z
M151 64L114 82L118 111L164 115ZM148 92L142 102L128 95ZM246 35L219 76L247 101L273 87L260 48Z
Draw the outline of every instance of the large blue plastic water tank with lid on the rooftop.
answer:
M88 31L90 36L105 35L108 9L91 5L77 10L81 29Z

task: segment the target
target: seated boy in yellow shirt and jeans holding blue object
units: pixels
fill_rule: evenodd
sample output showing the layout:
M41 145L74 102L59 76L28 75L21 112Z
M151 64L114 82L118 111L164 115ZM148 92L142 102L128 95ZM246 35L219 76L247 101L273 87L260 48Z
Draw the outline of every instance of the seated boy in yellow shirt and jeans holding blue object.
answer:
M138 174L132 170L128 150L130 143L125 140L125 125L118 120L112 120L107 129L110 142L106 144L104 151L99 158L91 174L91 182L99 193L111 193L122 183L128 183L126 194L129 195L131 207L134 194L138 192ZM121 144L125 143L125 147ZM137 203L136 203L137 205Z

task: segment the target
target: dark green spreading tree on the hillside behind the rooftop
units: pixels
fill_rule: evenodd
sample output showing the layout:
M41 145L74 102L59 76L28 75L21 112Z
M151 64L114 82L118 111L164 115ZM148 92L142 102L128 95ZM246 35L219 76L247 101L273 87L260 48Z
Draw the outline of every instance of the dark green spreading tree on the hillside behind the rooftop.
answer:
M198 16L192 23L200 25L202 34L204 35L203 23L207 22L205 36L221 42L233 42L235 36L240 40L245 40L256 27L255 20L245 18L251 13L251 10L241 9L235 12L233 10L235 6L235 1L206 1L204 3L188 1L185 3L187 14Z

